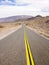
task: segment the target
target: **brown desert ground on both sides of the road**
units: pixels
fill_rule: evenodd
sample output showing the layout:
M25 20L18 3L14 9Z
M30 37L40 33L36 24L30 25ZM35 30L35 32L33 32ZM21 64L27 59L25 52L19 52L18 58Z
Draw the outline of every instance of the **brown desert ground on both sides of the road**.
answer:
M7 23L0 23L0 37L5 33L16 29L21 25L22 21L19 22L7 22ZM44 35L45 37L49 38L49 16L42 17L36 16L32 18L28 18L24 20L26 26L29 26L34 31Z

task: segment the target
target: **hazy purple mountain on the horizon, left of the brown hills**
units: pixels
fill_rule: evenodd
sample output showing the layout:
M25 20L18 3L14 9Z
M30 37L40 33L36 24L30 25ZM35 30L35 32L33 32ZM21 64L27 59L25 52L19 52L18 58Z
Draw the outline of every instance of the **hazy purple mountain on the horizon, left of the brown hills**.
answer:
M20 15L20 16L11 16L6 18L0 18L0 22L16 22L18 20L26 20L32 16Z

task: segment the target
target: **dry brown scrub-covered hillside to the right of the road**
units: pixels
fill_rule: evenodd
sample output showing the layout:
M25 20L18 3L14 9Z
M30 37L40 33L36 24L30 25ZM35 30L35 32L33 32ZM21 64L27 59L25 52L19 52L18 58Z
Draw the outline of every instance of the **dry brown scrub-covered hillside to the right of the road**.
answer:
M40 34L49 38L49 17L35 17L35 19L27 20L27 26L30 26L32 29L38 31Z

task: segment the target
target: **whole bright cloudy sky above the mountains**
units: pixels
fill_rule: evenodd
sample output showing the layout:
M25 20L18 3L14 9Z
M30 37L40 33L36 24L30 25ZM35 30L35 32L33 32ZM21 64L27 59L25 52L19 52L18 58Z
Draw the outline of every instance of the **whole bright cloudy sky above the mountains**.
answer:
M49 0L0 0L0 18L15 15L49 16Z

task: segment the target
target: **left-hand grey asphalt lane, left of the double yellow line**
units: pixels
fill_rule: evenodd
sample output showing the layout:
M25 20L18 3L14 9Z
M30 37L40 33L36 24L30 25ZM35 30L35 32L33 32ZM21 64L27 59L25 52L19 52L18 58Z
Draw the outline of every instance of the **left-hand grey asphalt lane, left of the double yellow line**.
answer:
M0 65L26 65L23 27L0 40Z

